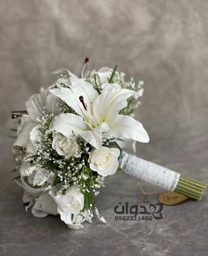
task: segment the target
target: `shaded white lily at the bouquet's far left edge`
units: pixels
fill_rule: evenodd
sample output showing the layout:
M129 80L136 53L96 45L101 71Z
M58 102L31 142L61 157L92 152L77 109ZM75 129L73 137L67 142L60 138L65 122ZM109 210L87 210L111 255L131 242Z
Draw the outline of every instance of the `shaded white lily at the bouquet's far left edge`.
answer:
M60 113L60 109L57 107L59 99L50 94L48 89L41 89L40 94L33 94L32 97L26 102L26 112L28 115L24 115L21 118L21 124L18 128L18 138L14 142L14 146L26 147L27 153L33 153L33 142L41 137L39 131L39 125L41 124L41 118L44 113L48 114Z

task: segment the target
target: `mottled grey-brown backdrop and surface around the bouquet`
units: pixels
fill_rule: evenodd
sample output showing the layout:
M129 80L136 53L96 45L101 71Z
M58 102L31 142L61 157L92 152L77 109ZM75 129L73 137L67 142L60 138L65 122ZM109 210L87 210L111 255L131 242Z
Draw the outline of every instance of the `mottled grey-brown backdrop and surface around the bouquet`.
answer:
M99 197L108 221L71 231L56 217L35 219L13 184L11 109L52 82L51 72L79 73L85 56L92 68L114 66L145 80L137 117L151 142L140 156L208 181L208 1L206 0L1 0L0 254L205 255L207 194L200 202L164 207L164 219L115 222L119 201L143 198L137 180L118 174ZM149 190L152 186L149 186ZM157 201L157 195L149 197Z

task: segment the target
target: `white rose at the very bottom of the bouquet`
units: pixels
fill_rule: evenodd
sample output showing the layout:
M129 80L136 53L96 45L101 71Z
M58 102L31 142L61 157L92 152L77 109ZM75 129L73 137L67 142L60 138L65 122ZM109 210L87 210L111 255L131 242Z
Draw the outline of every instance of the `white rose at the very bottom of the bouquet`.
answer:
M72 185L64 195L52 196L57 205L57 211L61 220L72 229L80 229L83 226L78 222L78 215L84 207L84 195L77 185Z

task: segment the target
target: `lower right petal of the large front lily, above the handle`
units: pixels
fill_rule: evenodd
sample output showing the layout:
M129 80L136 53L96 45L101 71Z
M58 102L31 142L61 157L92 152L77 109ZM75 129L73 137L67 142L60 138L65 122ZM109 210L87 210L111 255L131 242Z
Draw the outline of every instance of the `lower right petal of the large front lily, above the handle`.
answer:
M110 124L109 134L121 139L134 139L139 142L149 142L149 135L141 123L129 116L118 115Z

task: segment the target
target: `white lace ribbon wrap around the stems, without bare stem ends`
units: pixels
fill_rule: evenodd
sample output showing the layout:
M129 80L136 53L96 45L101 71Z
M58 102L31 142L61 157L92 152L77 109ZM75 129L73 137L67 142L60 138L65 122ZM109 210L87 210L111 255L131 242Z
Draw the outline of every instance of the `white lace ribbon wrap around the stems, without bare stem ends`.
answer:
M166 191L174 191L180 174L153 162L145 161L135 155L122 153L120 168L131 176L155 184Z

